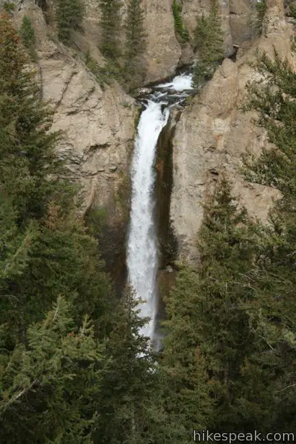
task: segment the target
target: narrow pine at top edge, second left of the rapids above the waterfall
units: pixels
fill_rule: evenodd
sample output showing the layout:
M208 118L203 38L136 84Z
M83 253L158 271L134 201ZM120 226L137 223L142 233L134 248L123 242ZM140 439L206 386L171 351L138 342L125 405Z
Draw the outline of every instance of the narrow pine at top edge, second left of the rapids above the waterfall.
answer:
M101 8L101 44L103 56L116 62L121 54L119 31L121 29L121 0L99 0Z

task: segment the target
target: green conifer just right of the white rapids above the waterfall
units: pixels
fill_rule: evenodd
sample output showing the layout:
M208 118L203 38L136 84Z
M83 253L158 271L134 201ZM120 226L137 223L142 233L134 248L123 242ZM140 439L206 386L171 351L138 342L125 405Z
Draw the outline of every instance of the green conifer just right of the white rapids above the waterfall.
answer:
M193 73L193 85L200 88L210 79L223 60L223 32L217 0L212 0L209 16L197 18L195 27L195 50L198 58Z

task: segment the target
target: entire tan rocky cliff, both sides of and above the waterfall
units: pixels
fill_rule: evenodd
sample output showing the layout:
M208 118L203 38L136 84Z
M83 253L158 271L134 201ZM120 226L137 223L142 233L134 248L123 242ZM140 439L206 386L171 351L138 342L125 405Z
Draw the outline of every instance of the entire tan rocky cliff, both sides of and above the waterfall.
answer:
M193 37L196 16L208 14L210 0L178 0L182 18ZM69 175L83 185L84 210L92 206L107 209L110 226L127 222L128 175L134 140L136 103L116 82L101 86L82 62L82 53L90 54L103 66L98 49L100 39L97 0L85 0L87 15L84 29L73 34L71 49L56 37L53 0L12 0L14 18L20 25L24 15L32 19L36 32L38 75L43 98L55 110L53 130L63 130L58 147L67 159ZM0 0L0 5L5 1ZM245 85L256 73L249 66L256 49L291 56L292 27L284 18L282 0L267 0L263 33L254 40L254 0L219 0L224 32L225 56L233 45L240 46L236 62L226 59L201 95L182 112L173 139L173 191L171 220L180 252L195 258L195 238L202 221L201 204L225 169L251 212L266 219L277 191L248 184L238 173L241 153L258 153L267 144L266 135L238 107L245 99ZM46 12L41 6L47 4ZM123 16L126 2L123 1ZM172 0L143 0L147 68L145 82L153 82L174 73L177 66L194 58L190 42L184 44L175 35ZM47 16L47 22L45 21ZM253 40L250 40L253 38ZM123 241L123 238L121 238Z

